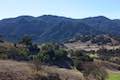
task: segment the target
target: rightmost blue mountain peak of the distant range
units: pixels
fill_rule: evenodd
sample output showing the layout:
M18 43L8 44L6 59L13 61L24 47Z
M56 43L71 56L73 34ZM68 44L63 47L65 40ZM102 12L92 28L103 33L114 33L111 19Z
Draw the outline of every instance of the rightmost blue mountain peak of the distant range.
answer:
M120 20L111 20L104 16L98 16L85 18L80 21L106 34L120 34Z

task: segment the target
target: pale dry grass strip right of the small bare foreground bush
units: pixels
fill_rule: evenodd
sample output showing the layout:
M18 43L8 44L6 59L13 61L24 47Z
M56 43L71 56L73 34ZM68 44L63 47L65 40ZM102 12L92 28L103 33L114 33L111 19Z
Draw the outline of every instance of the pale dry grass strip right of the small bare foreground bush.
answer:
M64 68L56 67L44 67L44 71L48 73L57 73L59 74L62 80L84 80L83 74L77 70L69 70Z

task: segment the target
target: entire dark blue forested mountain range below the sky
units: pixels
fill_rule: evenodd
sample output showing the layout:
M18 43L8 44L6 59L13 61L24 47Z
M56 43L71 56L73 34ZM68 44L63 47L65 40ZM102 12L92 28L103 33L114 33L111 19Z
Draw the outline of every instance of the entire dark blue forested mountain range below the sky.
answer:
M66 41L76 35L120 34L120 20L103 16L71 19L53 15L19 16L0 21L0 35L10 41L31 36L35 42Z

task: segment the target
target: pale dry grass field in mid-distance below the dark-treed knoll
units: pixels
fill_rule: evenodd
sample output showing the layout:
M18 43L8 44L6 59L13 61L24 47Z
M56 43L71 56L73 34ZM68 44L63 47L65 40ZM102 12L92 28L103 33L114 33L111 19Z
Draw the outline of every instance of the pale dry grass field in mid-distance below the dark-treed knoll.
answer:
M88 46L89 45L89 46ZM101 46L98 46L96 44L91 44L89 42L86 42L86 43L83 43L83 42L73 42L73 43L66 43L65 44L66 47L68 47L69 49L73 49L73 50L86 50L86 51L90 51L90 50L99 50L101 48L106 48L108 50L110 49L119 49L120 48L120 45L117 45L117 46L111 46L111 45L101 45Z

